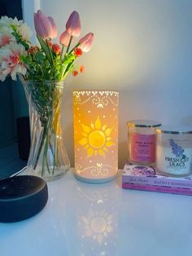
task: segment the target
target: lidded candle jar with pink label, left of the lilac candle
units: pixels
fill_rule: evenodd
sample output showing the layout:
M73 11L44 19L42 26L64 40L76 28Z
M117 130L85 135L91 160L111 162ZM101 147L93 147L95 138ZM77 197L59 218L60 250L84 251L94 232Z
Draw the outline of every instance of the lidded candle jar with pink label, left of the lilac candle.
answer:
M129 161L133 164L155 164L155 127L158 121L128 121Z

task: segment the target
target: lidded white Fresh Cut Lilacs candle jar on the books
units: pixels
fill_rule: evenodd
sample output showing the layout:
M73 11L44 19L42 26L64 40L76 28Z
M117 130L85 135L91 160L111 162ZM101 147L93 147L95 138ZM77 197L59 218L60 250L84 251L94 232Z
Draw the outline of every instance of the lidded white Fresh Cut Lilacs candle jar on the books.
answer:
M156 129L156 170L168 176L184 177L192 170L192 129Z

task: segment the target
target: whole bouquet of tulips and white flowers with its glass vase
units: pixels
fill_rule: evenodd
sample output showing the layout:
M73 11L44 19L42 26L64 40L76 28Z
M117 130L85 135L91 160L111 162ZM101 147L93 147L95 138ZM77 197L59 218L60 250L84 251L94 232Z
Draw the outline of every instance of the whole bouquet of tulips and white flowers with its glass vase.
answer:
M87 33L74 43L81 33L81 20L73 11L66 30L57 37L52 17L42 11L34 13L38 46L29 41L32 31L22 20L2 16L0 19L0 80L20 77L28 101L31 148L28 171L46 179L55 179L69 169L68 154L63 146L60 106L63 84L68 73L76 77L85 68L76 68L75 61L90 50L94 34ZM74 46L72 46L74 45Z

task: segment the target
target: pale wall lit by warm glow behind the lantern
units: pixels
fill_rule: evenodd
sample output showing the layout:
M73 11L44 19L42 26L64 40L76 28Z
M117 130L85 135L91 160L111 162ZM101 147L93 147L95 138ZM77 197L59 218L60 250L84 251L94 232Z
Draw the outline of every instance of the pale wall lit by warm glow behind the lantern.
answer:
M66 80L65 144L73 166L72 90L120 91L119 166L127 159L129 119L154 119L192 127L191 0L23 0L24 20L33 11L52 15L59 28L72 11L81 15L83 36L95 41L79 64L86 72Z

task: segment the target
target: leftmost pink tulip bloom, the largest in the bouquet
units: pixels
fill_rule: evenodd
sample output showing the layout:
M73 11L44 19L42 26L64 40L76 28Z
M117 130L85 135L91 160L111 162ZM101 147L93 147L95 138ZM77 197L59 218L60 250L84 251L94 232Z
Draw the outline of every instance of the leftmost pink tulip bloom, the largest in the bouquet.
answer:
M46 40L47 38L55 38L57 28L52 17L46 17L42 11L34 13L35 30L39 37Z

